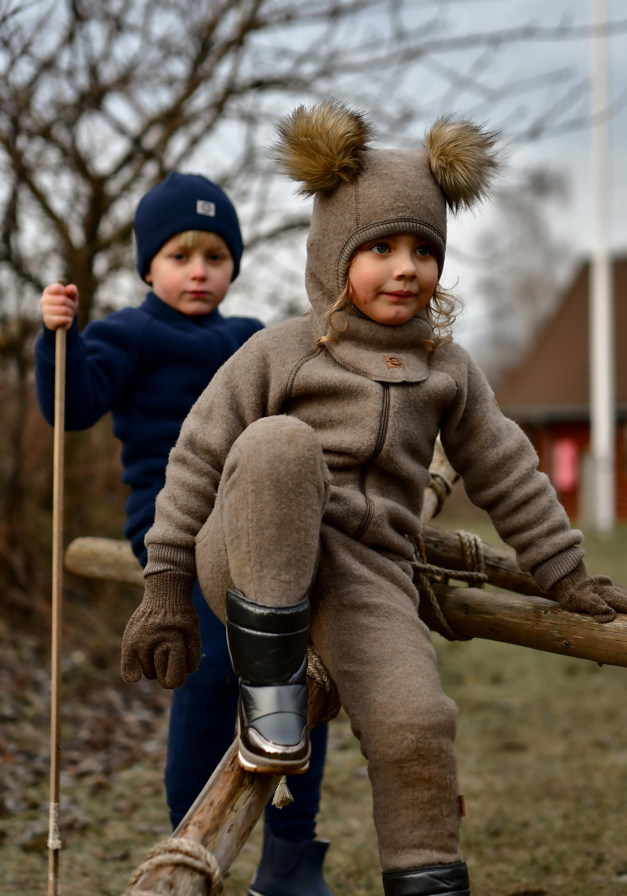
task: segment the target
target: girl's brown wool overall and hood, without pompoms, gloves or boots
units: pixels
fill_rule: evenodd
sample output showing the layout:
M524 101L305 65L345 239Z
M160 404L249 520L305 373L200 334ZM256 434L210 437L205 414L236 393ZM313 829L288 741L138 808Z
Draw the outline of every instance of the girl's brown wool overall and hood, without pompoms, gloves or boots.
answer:
M425 152L371 151L356 183L316 196L312 310L253 336L194 405L145 571L179 573L182 591L196 573L221 619L233 585L268 604L310 593L312 640L368 761L383 870L460 860L456 710L408 564L438 431L542 588L583 556L527 437L467 352L430 351L424 314L385 326L348 313L338 342L317 347L351 254L399 231L429 238L442 265L445 203Z

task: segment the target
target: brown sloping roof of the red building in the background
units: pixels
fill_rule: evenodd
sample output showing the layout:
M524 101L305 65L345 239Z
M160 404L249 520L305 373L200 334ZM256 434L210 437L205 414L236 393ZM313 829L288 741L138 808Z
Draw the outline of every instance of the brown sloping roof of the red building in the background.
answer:
M582 265L562 304L520 365L496 390L503 411L520 421L588 418L588 278ZM627 259L614 262L616 403L627 415Z

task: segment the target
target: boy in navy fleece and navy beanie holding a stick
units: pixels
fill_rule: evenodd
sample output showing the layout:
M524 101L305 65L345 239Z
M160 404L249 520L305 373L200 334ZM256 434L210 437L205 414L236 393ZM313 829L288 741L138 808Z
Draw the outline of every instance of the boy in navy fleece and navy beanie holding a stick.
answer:
M86 429L111 412L123 446L123 481L131 487L125 536L145 565L143 538L183 420L219 367L262 323L218 311L243 249L235 208L219 186L200 175L168 175L139 203L135 237L138 271L152 287L142 305L79 333L78 290L48 286L40 302L44 331L36 379L39 407L52 425L55 330L66 327L65 428ZM167 745L167 802L175 826L230 745L236 719L237 681L225 629L198 582L193 603L203 657L173 694ZM266 842L254 883L261 896L331 896L322 880L326 845L314 840L325 748L326 728L317 728L310 770L290 779L295 801L280 811L266 809ZM276 863L291 870L286 875Z

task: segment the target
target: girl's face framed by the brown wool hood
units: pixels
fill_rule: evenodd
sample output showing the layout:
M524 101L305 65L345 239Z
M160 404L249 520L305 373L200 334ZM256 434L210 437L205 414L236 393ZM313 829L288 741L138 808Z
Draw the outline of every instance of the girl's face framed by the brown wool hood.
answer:
M377 323L406 323L434 296L438 263L423 237L399 233L357 249L348 270L353 303Z

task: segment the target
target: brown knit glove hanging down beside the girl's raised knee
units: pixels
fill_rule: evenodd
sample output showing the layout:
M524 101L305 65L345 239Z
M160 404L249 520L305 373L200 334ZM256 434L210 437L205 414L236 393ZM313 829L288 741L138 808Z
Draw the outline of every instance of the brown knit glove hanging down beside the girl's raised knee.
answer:
M192 603L193 576L154 573L122 640L122 677L156 678L161 687L181 687L201 661L201 633Z

